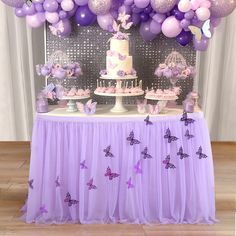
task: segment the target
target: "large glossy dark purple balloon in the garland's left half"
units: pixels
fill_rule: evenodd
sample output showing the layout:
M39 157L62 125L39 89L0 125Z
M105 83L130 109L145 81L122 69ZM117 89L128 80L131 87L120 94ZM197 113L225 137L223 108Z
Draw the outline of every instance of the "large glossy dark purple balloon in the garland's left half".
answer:
M96 15L90 11L88 6L82 6L76 11L75 21L79 26L92 25L96 21Z

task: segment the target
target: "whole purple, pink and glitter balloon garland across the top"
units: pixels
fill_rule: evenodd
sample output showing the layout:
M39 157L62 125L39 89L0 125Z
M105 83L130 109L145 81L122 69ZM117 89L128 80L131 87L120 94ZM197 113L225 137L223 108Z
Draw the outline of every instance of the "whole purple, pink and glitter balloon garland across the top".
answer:
M186 46L190 42L205 51L220 18L236 8L236 0L1 0L15 8L15 15L26 17L29 26L37 28L46 21L59 37L71 34L71 23L78 27L94 24L112 32L119 13L131 16L145 41L161 32Z

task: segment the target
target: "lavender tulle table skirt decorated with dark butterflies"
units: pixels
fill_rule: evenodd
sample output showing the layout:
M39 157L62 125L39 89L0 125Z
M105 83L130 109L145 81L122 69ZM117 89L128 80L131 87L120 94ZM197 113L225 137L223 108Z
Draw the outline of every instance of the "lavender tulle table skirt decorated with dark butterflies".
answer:
M207 125L181 117L37 115L24 220L214 223Z

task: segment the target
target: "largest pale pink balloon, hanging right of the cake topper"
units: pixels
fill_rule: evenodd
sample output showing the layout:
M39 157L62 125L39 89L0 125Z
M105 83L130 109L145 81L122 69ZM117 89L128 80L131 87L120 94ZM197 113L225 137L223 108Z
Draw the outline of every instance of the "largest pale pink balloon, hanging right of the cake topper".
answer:
M162 24L162 33L168 38L175 38L182 31L180 21L174 16L169 16Z

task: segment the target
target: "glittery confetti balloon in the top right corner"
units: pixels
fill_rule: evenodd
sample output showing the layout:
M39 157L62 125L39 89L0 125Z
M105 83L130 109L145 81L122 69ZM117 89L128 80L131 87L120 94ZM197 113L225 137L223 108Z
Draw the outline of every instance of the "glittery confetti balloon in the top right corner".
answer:
M236 0L210 0L211 15L214 17L225 17L236 8Z

